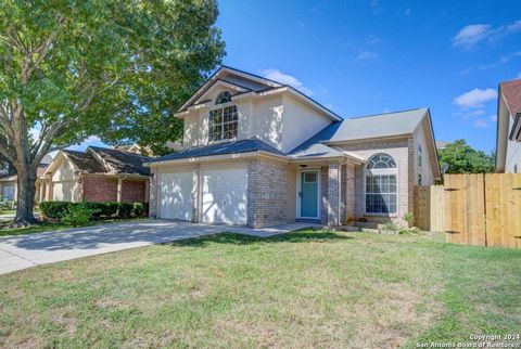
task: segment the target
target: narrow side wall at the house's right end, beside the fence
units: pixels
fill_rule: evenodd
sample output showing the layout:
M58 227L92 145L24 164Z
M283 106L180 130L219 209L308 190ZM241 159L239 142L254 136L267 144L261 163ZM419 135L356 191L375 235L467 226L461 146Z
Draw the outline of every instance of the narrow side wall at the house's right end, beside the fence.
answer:
M430 137L430 129L427 122L427 119L422 121L420 127L414 134L414 181L415 185L419 184L419 177L421 174L421 185L431 185L434 184L434 170L433 170L433 158L432 158L432 140ZM421 146L421 165L419 160L419 147ZM435 163L434 163L435 164Z

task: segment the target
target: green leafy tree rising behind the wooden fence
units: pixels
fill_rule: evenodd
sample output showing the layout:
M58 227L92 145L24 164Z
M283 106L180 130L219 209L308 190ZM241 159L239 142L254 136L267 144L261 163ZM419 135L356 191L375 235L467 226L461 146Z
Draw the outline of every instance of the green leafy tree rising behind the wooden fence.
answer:
M440 164L447 164L447 173L490 173L494 171L494 158L476 151L465 140L448 143L439 150Z

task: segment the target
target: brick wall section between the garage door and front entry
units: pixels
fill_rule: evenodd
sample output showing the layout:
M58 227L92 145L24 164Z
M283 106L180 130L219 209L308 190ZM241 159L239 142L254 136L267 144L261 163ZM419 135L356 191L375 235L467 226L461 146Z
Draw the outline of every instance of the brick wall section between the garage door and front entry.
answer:
M288 221L287 165L252 160L247 167L247 225L262 228Z

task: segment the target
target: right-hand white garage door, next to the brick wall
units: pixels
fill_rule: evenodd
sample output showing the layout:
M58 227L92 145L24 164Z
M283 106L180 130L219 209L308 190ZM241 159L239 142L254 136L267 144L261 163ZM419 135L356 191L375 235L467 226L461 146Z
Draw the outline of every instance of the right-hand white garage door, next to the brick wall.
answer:
M202 172L204 223L246 224L247 169Z

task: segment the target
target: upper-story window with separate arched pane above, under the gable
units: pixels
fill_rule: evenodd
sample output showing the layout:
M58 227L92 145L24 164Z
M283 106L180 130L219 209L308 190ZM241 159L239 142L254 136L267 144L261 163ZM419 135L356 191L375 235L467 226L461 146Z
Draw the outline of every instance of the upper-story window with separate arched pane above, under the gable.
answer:
M208 141L231 140L238 133L237 105L220 106L231 102L231 93L220 92L215 99L217 108L209 112L208 117Z

